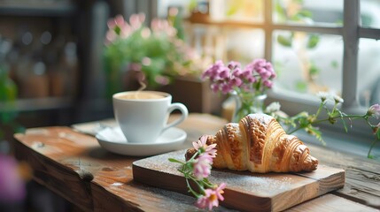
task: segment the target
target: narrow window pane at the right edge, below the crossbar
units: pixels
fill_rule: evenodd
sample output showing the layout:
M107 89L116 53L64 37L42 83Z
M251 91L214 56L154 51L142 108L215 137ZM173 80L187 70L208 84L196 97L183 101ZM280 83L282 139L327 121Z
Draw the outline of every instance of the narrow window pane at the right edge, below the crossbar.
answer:
M361 105L380 103L380 42L361 38L359 41L358 92Z

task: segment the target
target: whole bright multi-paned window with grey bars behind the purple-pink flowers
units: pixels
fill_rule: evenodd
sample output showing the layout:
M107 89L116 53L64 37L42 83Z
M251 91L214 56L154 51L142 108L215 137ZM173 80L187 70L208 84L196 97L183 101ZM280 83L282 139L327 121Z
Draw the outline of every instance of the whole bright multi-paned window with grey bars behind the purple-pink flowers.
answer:
M281 102L282 110L291 115L315 112L319 91L340 95L347 113L364 113L366 107L380 102L378 0L208 2L211 18L217 19L197 24L221 28L227 38L221 43L226 48L221 59L249 62L265 57L275 65L278 79L269 97ZM215 2L225 3L217 4L216 15L211 8ZM365 134L368 147L373 139L368 126L354 125L349 131L360 137ZM345 132L339 125L326 126Z

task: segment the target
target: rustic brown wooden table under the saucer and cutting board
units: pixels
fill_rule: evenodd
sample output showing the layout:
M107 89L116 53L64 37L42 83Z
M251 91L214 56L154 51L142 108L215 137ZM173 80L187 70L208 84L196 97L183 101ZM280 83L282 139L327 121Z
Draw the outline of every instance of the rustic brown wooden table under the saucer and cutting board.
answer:
M112 120L103 122L112 125ZM186 147L202 134L214 134L225 120L190 114L179 125ZM84 211L197 211L195 198L133 179L132 163L141 157L115 155L90 135L96 123L51 126L15 134L15 155L34 170L34 180ZM345 170L345 186L288 211L380 211L380 163L307 144L320 163ZM219 207L216 211L229 211Z

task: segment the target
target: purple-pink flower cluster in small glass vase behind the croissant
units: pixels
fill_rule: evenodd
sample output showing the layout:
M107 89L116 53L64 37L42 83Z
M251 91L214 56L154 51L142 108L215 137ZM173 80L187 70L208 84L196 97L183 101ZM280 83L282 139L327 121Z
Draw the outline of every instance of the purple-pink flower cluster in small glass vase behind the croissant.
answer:
M211 80L213 92L234 96L236 110L233 122L247 114L263 112L267 90L272 88L275 77L272 64L265 59L253 60L244 68L237 62L225 65L220 60L202 74L202 79Z

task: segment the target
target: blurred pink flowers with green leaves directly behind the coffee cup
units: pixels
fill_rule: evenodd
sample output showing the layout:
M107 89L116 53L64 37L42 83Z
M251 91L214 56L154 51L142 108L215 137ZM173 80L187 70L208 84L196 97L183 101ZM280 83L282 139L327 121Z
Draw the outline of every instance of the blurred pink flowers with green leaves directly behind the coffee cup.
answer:
M107 23L104 58L108 95L125 89L127 73L154 89L169 84L175 76L202 70L196 51L177 37L177 30L166 19L153 19L150 27L144 20L141 13L130 16L129 23L121 15Z

